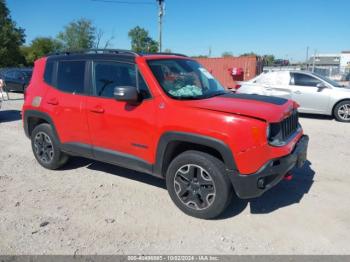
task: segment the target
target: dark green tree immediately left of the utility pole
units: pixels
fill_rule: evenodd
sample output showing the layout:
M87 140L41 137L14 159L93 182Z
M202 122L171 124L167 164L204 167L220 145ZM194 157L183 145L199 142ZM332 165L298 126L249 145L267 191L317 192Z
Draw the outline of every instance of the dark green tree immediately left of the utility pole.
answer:
M156 53L158 52L158 42L153 40L148 31L136 26L128 34L131 39L131 49L135 52Z

